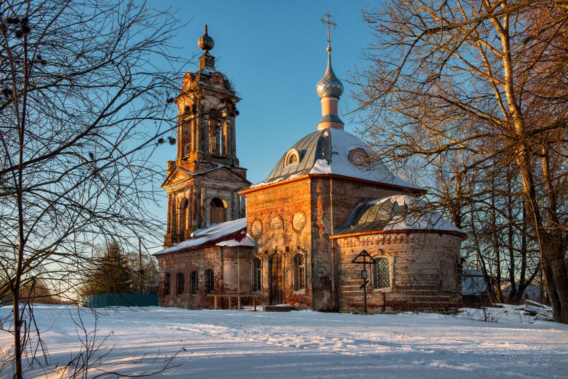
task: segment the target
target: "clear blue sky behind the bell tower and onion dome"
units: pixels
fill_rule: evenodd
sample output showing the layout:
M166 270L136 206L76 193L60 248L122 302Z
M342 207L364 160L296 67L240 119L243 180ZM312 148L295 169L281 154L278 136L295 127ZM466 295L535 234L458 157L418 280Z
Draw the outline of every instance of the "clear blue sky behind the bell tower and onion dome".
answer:
M327 65L327 30L321 17L329 11L337 28L332 35L332 63L344 79L355 65L366 64L362 49L372 39L362 22L364 2L354 1L153 1L153 6L177 9L187 25L170 43L176 55L196 56L204 24L215 40L211 54L216 68L235 85L242 100L237 105L237 156L248 169L249 181L264 180L279 158L303 136L315 131L321 116L316 83ZM345 110L350 86L344 82L340 101ZM349 117L343 117L351 131ZM175 158L175 148L162 145L152 161L164 168ZM159 186L161 183L157 183ZM165 195L165 192L164 192ZM157 216L165 218L165 197ZM157 243L160 243L157 241Z

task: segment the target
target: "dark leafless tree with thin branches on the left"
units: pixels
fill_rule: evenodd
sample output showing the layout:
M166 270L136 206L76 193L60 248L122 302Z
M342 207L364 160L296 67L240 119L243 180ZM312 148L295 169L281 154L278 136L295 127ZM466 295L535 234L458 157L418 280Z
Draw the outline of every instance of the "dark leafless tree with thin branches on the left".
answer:
M130 1L2 2L0 298L12 297L15 378L34 324L20 289L41 277L70 296L95 246L161 235L148 157L175 143L178 27Z

